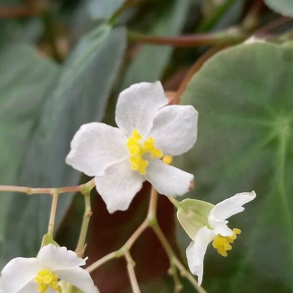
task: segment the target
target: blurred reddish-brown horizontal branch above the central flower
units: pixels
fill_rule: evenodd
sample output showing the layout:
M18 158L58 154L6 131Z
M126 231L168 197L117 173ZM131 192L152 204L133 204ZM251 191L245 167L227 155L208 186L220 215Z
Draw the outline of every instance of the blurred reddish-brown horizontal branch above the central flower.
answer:
M237 44L248 38L248 34L237 29L210 34L195 34L178 37L152 36L128 31L129 42L142 42L175 47L196 47L203 45Z

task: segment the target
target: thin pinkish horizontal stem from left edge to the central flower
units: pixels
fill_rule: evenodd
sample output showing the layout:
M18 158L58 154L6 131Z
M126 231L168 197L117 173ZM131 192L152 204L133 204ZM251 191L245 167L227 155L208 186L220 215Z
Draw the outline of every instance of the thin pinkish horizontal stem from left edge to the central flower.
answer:
M51 194L53 190L57 190L59 192L59 194L61 194L61 193L66 193L66 192L82 191L85 186L87 186L88 188L91 188L91 189L94 188L95 187L94 179L92 179L82 185L60 187L60 188L32 188L32 187L25 187L25 186L0 185L0 191L23 192L28 195L31 195L31 194L36 194L36 193Z

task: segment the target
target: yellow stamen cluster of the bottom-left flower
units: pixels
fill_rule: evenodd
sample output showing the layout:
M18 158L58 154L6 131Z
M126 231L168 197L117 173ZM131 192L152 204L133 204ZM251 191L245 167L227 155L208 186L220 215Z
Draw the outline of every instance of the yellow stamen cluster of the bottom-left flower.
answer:
M62 288L58 285L57 274L52 274L48 270L41 270L35 277L35 281L38 284L37 291L41 293L46 293L50 287L56 292L62 293Z

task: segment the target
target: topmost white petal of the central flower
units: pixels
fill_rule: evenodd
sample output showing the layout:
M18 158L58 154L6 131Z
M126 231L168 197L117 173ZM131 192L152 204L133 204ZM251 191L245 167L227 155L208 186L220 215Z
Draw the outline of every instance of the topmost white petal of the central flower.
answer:
M160 82L132 84L118 97L116 124L127 136L130 136L135 128L142 136L146 136L157 110L167 104L168 99Z

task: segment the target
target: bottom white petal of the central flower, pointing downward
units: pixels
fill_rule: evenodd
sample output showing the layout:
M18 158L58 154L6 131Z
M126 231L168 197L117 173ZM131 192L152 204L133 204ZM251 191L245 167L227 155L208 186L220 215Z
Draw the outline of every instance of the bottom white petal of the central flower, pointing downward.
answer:
M144 181L144 176L131 170L128 159L107 168L105 175L95 177L97 191L110 213L128 209Z

